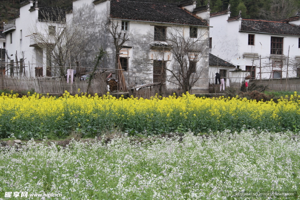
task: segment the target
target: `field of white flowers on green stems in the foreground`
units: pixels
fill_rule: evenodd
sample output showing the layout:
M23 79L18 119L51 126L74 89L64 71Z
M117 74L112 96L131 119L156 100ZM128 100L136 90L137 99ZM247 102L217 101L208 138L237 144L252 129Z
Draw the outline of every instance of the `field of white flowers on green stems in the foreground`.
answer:
M300 140L291 132L188 132L142 141L111 134L110 141L71 140L65 148L46 140L1 147L0 199L9 191L61 193L61 199L72 200L241 199L234 193L300 192Z

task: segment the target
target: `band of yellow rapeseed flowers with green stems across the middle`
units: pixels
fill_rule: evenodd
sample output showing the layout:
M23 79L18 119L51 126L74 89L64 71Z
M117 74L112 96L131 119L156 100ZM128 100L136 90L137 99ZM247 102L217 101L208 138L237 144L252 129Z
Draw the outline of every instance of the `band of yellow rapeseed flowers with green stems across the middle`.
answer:
M243 128L274 131L300 129L300 96L295 92L289 100L274 101L197 98L137 99L86 95L40 97L39 94L17 98L0 96L0 137L14 133L19 138L40 137L48 133L64 136L80 128L92 136L119 127L132 134L185 132L195 133Z

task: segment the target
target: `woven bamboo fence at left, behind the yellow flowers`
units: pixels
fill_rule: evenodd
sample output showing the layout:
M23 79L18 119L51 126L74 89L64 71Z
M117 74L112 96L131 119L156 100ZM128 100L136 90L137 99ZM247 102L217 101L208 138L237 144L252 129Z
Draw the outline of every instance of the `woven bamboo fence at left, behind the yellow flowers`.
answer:
M73 84L64 77L18 77L18 76L0 76L0 88L9 90L31 90L37 93L63 94L64 91L70 94L86 92L88 80L74 78ZM106 75L98 74L91 81L89 94L98 93L99 95L107 93Z

